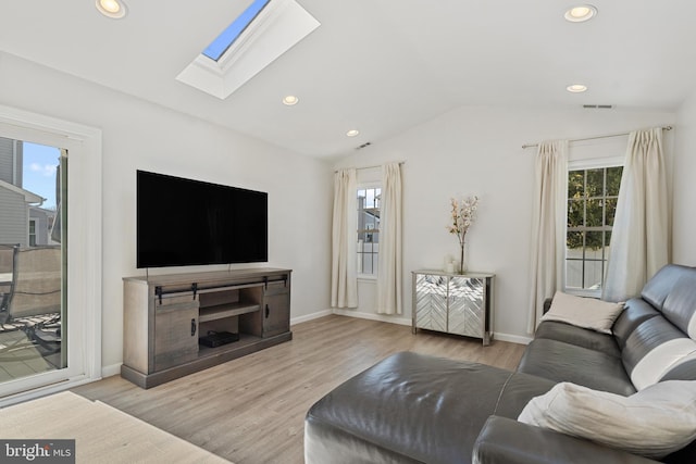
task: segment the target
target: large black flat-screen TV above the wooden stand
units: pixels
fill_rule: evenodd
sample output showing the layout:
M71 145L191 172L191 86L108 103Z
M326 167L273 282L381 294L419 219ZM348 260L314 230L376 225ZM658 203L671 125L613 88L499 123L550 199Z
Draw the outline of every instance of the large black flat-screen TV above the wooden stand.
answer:
M137 267L268 261L268 193L137 171Z

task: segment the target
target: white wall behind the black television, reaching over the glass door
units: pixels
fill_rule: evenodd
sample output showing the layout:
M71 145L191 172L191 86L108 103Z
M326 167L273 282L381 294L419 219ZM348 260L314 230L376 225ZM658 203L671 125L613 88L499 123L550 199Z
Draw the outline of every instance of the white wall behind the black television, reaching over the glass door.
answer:
M103 215L95 221L103 225L103 366L122 361L122 278L145 273L135 267L138 168L268 191L269 265L294 269L291 317L328 306L333 177L327 163L16 57L0 53L0 70L1 104L102 130ZM71 208L79 208L79 199L71 198Z

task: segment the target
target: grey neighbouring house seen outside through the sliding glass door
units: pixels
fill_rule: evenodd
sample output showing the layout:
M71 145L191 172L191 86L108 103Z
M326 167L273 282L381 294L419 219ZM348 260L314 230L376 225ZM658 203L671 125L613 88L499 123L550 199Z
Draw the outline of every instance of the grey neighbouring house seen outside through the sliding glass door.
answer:
M55 212L40 208L44 198L22 188L22 140L0 137L0 243L50 244Z

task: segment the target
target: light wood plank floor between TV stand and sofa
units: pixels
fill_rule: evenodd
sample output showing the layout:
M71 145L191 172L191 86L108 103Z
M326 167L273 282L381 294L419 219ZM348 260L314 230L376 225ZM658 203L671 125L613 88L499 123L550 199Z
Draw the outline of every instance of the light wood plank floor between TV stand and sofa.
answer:
M302 463L303 419L321 397L398 351L513 369L523 346L326 316L293 326L293 341L142 390L120 376L75 388L238 464Z

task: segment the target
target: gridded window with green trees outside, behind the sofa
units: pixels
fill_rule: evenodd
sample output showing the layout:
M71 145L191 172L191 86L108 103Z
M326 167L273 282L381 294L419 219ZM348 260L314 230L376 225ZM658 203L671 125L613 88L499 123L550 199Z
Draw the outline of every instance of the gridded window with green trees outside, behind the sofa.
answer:
M568 172L566 291L601 296L623 166Z

